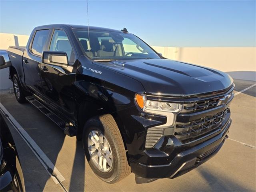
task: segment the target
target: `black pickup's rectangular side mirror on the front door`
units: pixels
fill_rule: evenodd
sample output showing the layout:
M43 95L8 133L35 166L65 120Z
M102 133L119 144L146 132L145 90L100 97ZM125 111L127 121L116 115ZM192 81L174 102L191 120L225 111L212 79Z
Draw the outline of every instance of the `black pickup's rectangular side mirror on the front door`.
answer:
M68 56L62 51L44 51L42 54L42 63L57 66L68 66Z

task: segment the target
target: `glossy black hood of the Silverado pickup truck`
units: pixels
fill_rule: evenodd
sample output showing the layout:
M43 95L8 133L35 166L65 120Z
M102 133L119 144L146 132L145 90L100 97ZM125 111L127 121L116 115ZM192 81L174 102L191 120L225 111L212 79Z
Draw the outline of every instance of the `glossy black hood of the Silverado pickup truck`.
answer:
M189 96L224 90L233 84L224 72L168 59L114 61L107 66L138 80L147 94Z

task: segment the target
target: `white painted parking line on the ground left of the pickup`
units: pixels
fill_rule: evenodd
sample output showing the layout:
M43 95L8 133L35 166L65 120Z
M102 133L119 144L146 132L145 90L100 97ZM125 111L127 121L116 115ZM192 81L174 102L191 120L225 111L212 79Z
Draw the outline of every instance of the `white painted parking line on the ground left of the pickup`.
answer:
M22 128L22 126L15 120L15 118L6 110L6 108L0 102L0 110L6 116L8 121L14 126L15 130L20 134L21 138L26 142L28 147L32 150L38 160L44 166L45 170L48 172L55 184L60 184L64 191L67 191L66 188L62 185L61 182L65 180L59 170L54 166L51 160L44 154L41 148L36 144L36 142L29 136L29 134Z

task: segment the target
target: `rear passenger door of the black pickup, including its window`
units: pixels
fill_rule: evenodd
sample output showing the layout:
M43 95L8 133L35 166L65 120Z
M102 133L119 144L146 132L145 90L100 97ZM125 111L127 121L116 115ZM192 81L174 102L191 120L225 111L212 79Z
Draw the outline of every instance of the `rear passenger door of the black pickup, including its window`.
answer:
M42 92L40 63L49 34L50 29L36 30L23 55L25 84L34 92Z

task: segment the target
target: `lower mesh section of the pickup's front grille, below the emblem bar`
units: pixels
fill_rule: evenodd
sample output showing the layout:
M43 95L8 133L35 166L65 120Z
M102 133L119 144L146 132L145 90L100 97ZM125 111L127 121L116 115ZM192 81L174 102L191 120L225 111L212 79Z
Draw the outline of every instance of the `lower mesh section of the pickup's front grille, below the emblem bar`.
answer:
M202 134L216 130L221 125L228 111L229 109L226 108L222 112L218 112L217 114L206 116L205 118L200 118L192 122L176 122L174 126L174 136L176 136L176 138L178 138L182 143L186 143L193 140L192 138L199 137Z

